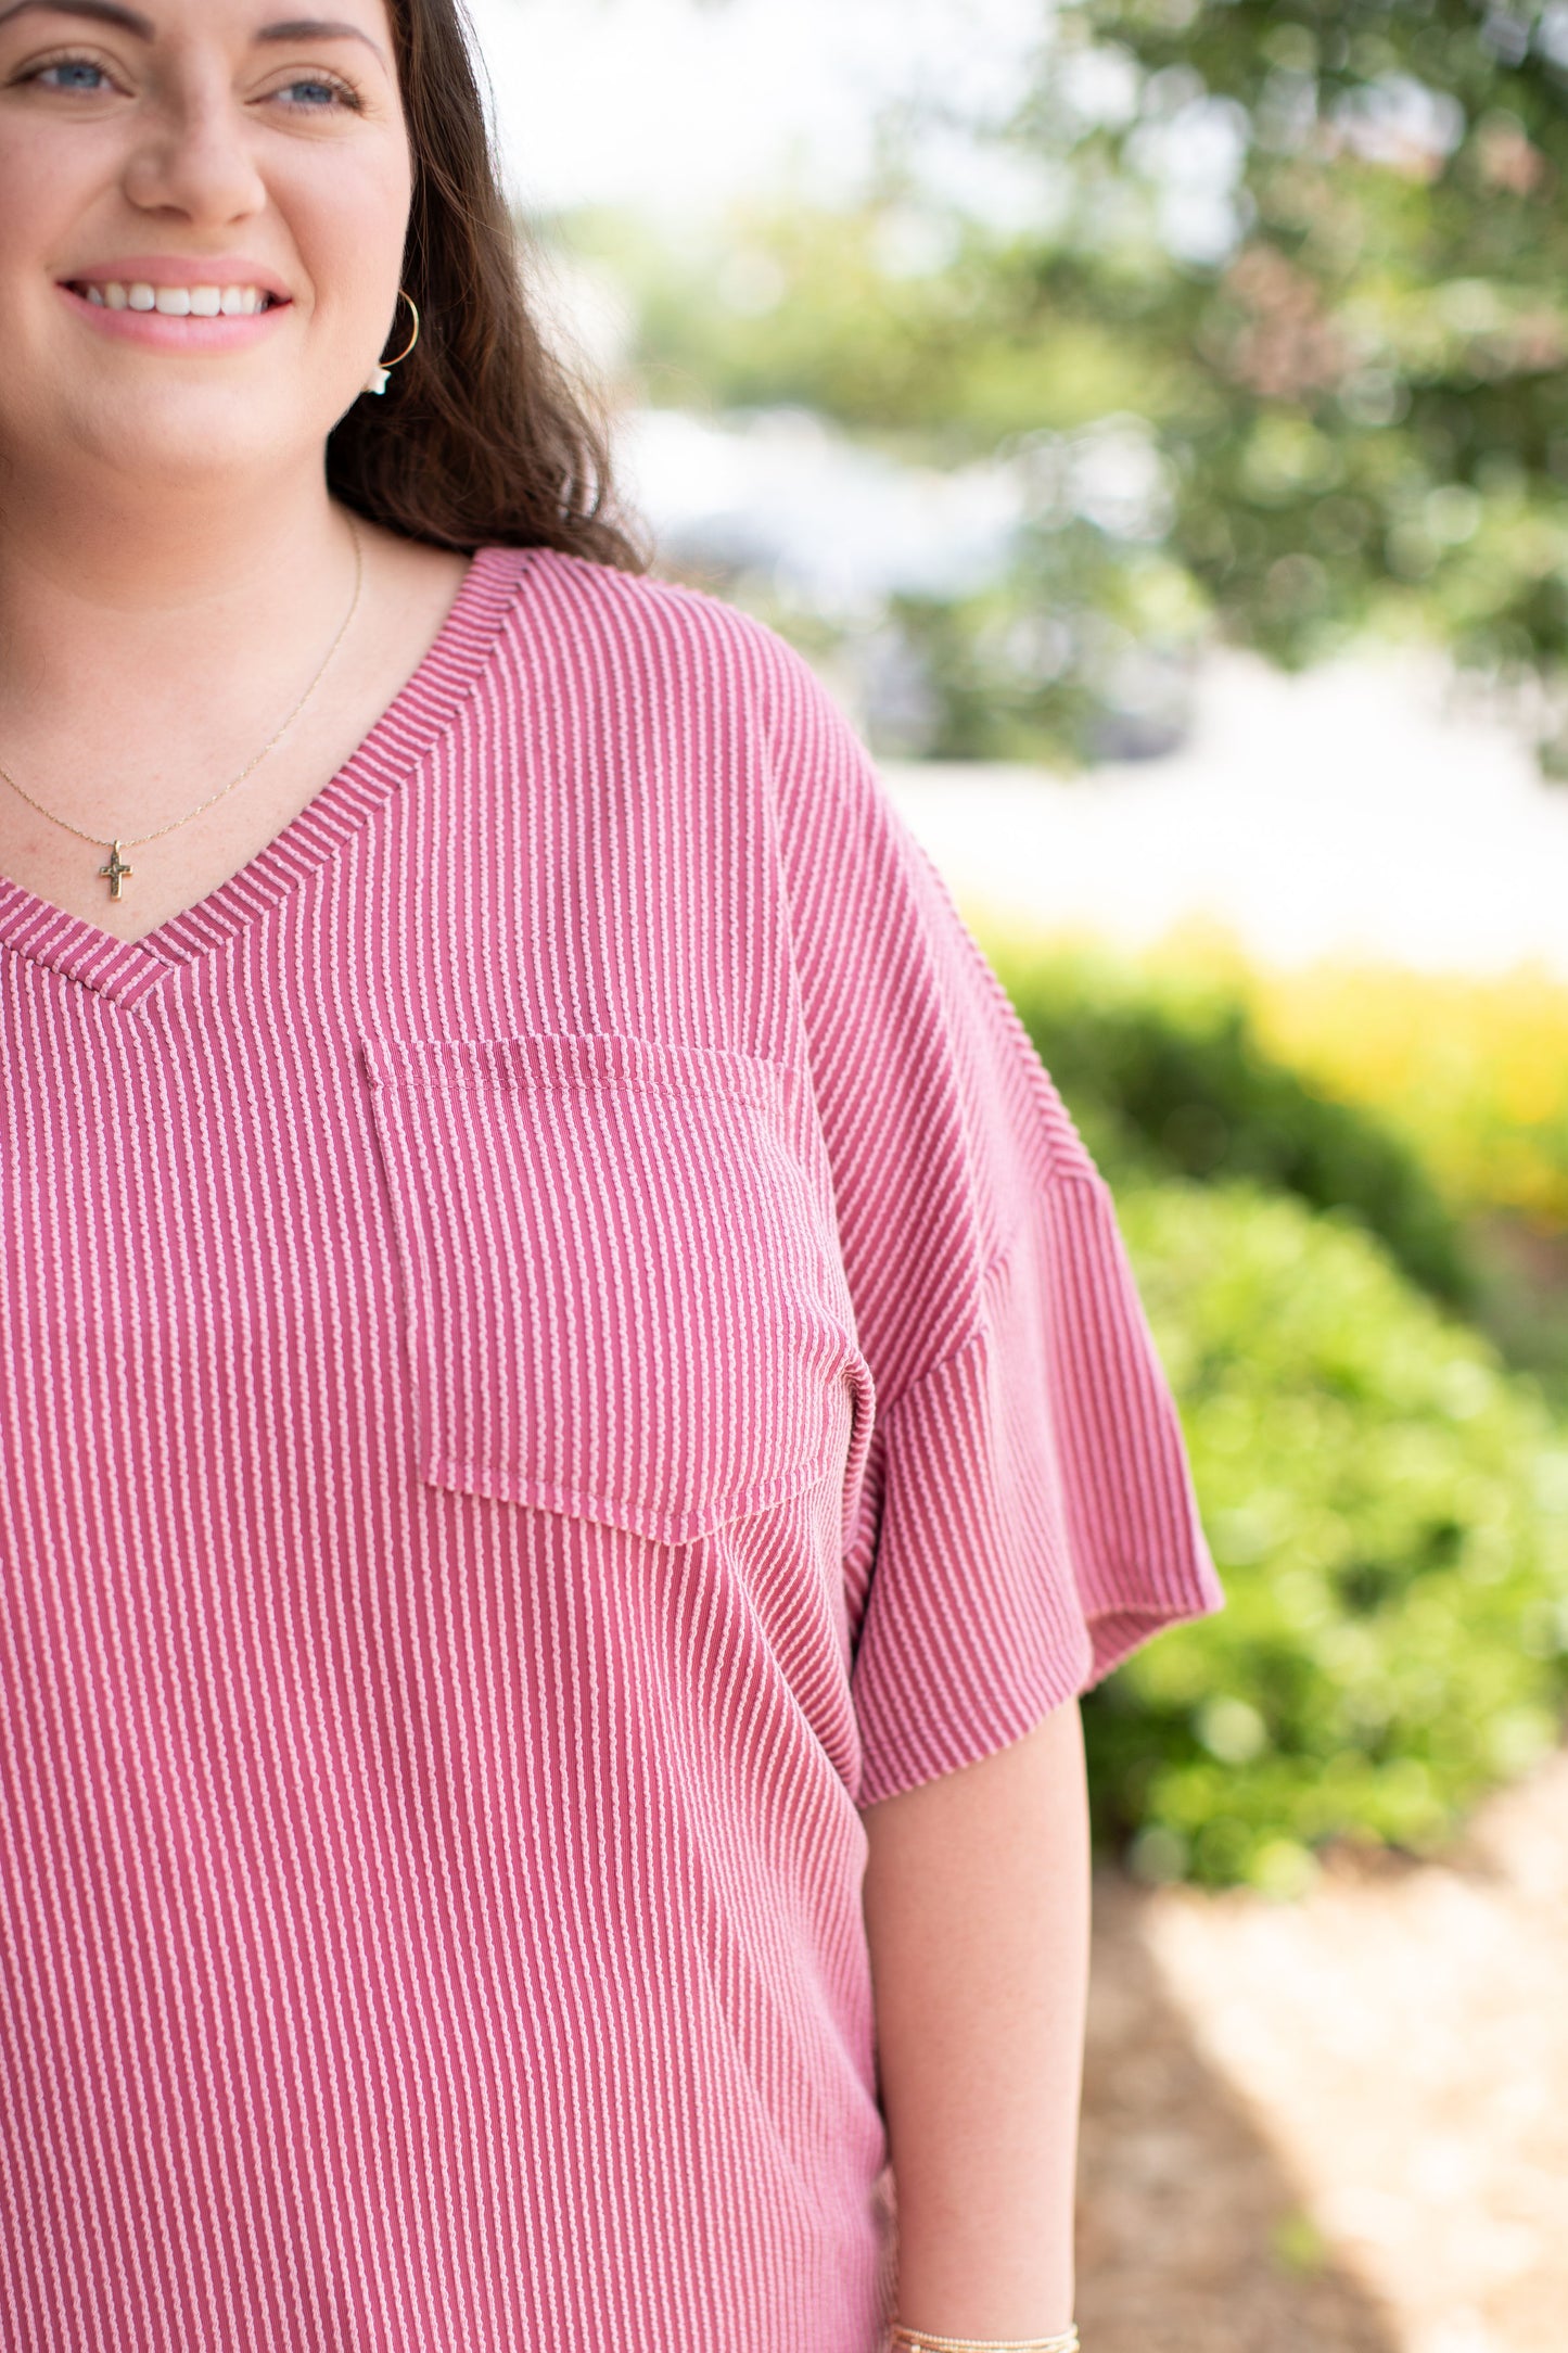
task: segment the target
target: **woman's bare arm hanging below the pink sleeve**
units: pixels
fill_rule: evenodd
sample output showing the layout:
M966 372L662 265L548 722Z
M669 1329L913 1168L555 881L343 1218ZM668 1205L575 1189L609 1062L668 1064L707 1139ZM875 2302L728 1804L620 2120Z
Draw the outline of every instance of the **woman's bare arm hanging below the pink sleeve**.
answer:
M863 1812L898 2318L1027 2339L1072 2320L1088 1998L1077 1699Z

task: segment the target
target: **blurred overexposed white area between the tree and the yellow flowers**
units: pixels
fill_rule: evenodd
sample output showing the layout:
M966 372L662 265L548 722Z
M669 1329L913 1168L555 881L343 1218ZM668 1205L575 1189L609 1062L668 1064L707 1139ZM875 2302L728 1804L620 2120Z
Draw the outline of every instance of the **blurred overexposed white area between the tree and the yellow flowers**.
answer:
M1568 979L1568 786L1436 656L1281 678L1213 654L1168 760L1072 781L884 762L971 913L1131 948L1211 915L1262 962Z

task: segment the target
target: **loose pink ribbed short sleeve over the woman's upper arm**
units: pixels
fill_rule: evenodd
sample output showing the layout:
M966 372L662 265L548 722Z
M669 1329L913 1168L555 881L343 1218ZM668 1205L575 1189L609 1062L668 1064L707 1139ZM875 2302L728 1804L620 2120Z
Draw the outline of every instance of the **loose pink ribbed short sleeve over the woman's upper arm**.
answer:
M792 965L875 1412L844 1511L858 1805L1225 1607L1105 1179L811 671L764 642Z

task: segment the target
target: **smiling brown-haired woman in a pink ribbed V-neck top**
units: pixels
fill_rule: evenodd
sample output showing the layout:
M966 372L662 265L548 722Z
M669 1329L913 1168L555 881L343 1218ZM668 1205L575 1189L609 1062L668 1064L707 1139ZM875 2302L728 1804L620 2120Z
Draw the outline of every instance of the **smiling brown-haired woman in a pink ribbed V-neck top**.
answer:
M451 0L0 7L0 2337L1067 2332L1077 1694L1222 1600L1067 1115Z

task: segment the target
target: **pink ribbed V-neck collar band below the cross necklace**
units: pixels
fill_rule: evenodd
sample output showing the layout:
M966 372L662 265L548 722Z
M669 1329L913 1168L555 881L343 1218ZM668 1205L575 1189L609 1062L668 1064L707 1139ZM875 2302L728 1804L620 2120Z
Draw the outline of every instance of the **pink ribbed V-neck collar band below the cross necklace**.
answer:
M141 939L115 939L85 915L71 915L0 875L0 951L47 965L118 1005L136 1005L174 972L256 922L397 791L442 734L484 666L531 555L531 548L480 548L435 642L369 734L320 793L205 899Z

